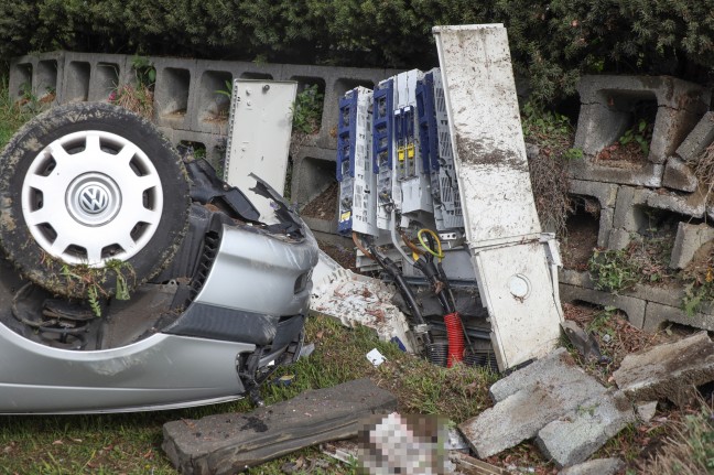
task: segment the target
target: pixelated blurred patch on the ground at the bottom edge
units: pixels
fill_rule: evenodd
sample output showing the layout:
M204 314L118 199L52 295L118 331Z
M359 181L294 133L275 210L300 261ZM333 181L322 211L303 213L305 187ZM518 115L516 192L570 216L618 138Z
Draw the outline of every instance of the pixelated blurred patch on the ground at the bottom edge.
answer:
M439 415L376 415L359 431L357 458L363 474L444 474L447 439L447 419Z

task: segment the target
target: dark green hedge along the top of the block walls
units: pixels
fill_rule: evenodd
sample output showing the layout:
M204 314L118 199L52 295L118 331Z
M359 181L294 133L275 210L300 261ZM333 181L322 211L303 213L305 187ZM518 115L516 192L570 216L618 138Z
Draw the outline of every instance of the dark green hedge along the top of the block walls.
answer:
M508 26L534 99L583 73L707 80L714 0L37 0L0 4L0 57L56 48L371 67L436 64L431 28Z

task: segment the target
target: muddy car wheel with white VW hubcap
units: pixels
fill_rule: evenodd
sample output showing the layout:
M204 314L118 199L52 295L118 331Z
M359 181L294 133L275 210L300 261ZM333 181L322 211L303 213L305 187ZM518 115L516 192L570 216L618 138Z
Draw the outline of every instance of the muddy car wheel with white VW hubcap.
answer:
M175 253L188 205L171 143L109 104L53 108L0 154L0 246L24 277L56 294L97 296L98 285L111 295L118 283L150 279Z

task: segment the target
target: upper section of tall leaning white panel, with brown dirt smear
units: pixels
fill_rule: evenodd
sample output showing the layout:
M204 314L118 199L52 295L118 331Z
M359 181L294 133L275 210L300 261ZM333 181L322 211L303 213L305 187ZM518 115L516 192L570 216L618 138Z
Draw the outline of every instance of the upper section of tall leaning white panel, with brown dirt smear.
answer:
M466 238L540 233L506 29L437 26L434 35Z

